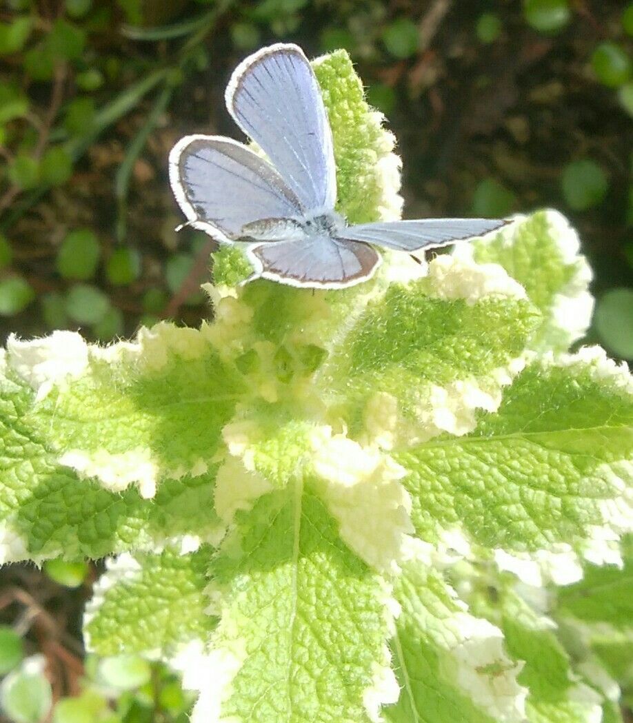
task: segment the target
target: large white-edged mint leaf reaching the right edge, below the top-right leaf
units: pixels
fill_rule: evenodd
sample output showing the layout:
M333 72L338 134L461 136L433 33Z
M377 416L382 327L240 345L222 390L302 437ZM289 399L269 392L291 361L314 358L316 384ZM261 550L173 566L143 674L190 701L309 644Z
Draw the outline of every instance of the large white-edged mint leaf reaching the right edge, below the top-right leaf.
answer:
M624 497L632 423L628 372L601 350L532 362L497 414L479 415L475 432L396 455L409 471L402 482L417 534L430 541L456 530L501 550L499 564L532 584L540 562L529 553L541 550L548 574L577 579L572 551L590 555L600 548L596 531L617 537L633 522ZM548 550L561 557L548 559Z

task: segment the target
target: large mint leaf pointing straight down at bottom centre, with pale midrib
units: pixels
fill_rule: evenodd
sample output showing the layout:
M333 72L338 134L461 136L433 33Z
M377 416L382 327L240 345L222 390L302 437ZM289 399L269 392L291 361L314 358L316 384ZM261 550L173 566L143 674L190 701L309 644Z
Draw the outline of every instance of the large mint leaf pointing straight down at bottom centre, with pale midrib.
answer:
M193 723L218 707L250 723L368 723L397 696L384 583L300 479L240 515L212 573L221 622L211 651L179 661L184 685L201 690Z

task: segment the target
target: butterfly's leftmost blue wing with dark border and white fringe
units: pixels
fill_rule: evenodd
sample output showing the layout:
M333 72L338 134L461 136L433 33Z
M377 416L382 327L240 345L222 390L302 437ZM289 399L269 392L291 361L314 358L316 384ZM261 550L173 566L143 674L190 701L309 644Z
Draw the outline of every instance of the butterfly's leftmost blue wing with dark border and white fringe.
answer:
M301 213L273 166L230 138L184 137L169 154L169 180L190 225L222 241L249 223Z

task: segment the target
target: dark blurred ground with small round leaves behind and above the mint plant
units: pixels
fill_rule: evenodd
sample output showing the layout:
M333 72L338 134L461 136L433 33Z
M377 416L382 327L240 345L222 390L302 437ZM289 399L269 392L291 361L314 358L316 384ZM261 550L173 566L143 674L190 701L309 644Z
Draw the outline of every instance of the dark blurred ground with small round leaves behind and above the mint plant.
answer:
M280 39L309 56L350 51L399 141L405 217L558 208L579 229L596 296L632 286L633 9L621 0L5 8L5 27L31 22L17 43L5 33L4 53L0 30L0 100L25 104L0 124L5 333L80 327L105 341L140 321L208 314L184 293L200 279L187 276L204 239L174 233L166 157L183 134L239 137L226 81ZM612 337L633 339L633 294L618 298L589 339L629 356L633 342Z

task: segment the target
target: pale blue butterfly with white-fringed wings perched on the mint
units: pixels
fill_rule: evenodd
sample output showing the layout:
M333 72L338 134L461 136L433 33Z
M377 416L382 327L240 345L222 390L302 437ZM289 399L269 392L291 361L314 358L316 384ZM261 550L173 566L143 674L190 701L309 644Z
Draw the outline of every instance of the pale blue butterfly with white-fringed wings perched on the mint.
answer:
M189 135L169 154L169 179L188 226L246 244L255 272L305 288L344 288L371 278L374 248L407 253L503 226L485 218L348 224L336 213L332 133L320 87L302 49L276 43L247 57L226 108L268 160L224 136Z

